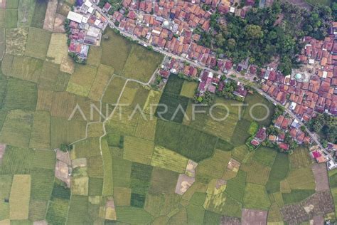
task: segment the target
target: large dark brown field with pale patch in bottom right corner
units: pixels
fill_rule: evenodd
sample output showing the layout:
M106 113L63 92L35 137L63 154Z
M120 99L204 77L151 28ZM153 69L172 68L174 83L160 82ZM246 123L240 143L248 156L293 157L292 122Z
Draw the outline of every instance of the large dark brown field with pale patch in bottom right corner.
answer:
M301 224L314 216L324 215L335 211L331 192L317 192L308 199L289 204L281 209L284 221L289 225Z

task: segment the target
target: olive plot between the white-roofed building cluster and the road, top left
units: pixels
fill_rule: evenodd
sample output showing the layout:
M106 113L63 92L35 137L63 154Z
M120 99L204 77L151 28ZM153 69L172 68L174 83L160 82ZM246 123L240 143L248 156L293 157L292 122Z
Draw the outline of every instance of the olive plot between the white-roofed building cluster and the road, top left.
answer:
M114 73L121 75L124 64L132 48L132 44L126 38L107 29L106 35L109 39L102 38L101 63L114 68ZM142 56L144 57L144 56Z

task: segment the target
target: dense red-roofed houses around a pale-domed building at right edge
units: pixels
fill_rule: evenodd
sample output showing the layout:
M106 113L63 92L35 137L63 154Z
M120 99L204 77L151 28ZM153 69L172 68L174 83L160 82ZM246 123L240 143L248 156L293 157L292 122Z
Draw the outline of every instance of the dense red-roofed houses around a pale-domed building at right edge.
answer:
M308 122L316 112L337 115L337 23L331 35L323 41L305 37L305 47L299 56L304 66L284 76L275 70L266 70L262 90L302 121Z

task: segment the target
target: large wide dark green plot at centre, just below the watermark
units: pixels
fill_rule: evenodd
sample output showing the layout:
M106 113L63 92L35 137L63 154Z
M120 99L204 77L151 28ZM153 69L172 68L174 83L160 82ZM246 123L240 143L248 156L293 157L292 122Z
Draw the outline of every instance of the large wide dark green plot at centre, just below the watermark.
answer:
M158 120L155 144L178 152L178 154L200 162L213 155L218 138L175 122Z

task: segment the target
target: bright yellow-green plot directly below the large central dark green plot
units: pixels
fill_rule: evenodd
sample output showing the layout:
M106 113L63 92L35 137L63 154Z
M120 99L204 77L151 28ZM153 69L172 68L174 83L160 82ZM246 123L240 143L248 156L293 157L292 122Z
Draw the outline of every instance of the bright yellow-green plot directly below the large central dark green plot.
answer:
M184 173L187 162L188 158L183 157L176 152L161 146L154 147L154 155L151 159L151 165L154 167L161 167L174 172Z

